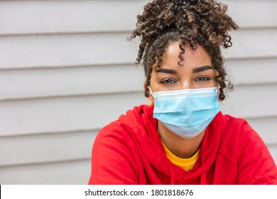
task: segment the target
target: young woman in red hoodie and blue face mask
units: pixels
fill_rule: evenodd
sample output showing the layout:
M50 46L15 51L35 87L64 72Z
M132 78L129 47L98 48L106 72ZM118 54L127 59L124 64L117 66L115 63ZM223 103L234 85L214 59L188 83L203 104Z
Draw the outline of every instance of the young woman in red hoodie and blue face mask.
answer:
M148 105L99 131L89 184L277 184L276 164L244 119L220 112L220 46L238 28L213 0L153 0L131 38L141 44Z

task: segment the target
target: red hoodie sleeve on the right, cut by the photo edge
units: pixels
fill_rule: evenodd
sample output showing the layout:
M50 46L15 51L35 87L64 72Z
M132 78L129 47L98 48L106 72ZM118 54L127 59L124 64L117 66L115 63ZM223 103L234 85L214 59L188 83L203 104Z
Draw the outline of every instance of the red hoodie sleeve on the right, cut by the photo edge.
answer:
M276 164L264 141L246 122L242 125L239 147L239 184L277 184Z

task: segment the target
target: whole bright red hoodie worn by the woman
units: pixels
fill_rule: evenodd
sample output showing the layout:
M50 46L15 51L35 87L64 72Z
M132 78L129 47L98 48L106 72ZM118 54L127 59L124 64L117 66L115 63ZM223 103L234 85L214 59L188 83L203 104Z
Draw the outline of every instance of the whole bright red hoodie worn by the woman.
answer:
M165 156L153 107L121 115L97 135L89 184L277 184L266 144L244 119L219 112L186 172Z

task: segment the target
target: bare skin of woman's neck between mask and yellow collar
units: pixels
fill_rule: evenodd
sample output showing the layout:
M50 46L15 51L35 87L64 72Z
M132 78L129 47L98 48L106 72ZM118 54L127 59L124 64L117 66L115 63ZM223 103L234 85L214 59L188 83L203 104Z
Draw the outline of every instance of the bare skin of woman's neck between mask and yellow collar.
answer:
M171 153L179 158L191 158L200 148L200 144L205 135L204 130L191 139L185 139L168 130L161 122L158 122L158 132L163 144L165 144Z

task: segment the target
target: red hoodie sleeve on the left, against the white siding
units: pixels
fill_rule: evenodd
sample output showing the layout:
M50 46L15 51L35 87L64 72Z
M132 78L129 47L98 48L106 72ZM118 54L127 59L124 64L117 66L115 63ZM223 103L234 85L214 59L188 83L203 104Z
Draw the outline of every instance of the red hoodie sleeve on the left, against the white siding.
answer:
M136 163L126 145L131 139L126 136L125 131L116 122L99 131L92 147L89 184L138 184Z

